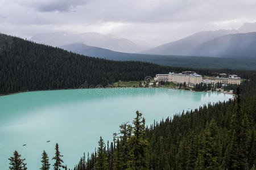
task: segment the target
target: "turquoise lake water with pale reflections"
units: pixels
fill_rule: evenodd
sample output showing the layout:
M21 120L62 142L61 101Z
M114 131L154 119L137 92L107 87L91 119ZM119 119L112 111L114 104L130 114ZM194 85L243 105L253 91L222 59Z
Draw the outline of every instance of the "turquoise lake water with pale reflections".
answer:
M0 169L8 169L8 158L15 150L26 158L28 170L39 169L43 150L51 159L56 142L64 163L73 168L83 152L87 156L87 152L94 151L100 136L105 142L112 140L119 125L132 121L136 111L142 112L150 125L188 108L231 97L166 88L56 90L0 96Z

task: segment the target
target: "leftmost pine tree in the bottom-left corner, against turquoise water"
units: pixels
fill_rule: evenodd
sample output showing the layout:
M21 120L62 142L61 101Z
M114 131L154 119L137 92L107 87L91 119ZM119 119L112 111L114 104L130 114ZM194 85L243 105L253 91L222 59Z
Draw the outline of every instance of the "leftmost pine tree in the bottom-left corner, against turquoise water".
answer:
M26 160L26 159L21 159L20 157L21 157L21 155L19 155L17 151L14 151L13 156L11 156L11 158L9 158L9 160L10 160L9 169L11 169L11 170L26 170L27 169L27 167L26 167L27 164L24 163L24 160Z

